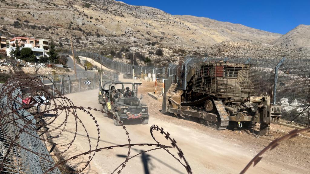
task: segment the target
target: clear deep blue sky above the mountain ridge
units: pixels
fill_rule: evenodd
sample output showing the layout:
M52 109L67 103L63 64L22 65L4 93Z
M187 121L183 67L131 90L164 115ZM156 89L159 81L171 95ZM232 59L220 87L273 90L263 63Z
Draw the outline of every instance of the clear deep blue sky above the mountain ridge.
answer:
M310 25L310 0L122 0L158 8L172 15L193 15L285 34Z

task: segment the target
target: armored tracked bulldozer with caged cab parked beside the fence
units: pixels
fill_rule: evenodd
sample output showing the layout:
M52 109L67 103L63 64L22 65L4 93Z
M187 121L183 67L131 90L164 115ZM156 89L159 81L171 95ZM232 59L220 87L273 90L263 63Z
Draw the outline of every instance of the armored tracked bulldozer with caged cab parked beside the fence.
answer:
M203 62L191 67L185 90L167 92L162 112L197 117L201 123L223 130L260 123L259 135L281 117L281 106L270 104L270 96L257 94L249 64Z

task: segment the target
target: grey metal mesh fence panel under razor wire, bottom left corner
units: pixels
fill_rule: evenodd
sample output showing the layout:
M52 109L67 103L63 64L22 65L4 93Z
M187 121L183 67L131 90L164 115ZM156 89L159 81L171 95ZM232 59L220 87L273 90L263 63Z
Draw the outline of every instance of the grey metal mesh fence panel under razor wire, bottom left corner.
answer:
M15 97L21 103L18 91L15 91ZM44 173L49 168L54 167L55 162L47 151L46 146L41 141L35 128L30 128L29 120L33 120L33 115L28 111L21 109L9 114L13 109L19 109L19 103L10 103L7 106L7 97L0 100L0 163L2 173ZM27 118L21 118L24 115L31 115ZM12 121L14 120L15 121ZM8 152L8 153L7 153ZM5 154L7 154L5 158ZM5 160L4 160L5 158ZM3 161L4 160L4 161ZM58 168L51 172L60 174Z

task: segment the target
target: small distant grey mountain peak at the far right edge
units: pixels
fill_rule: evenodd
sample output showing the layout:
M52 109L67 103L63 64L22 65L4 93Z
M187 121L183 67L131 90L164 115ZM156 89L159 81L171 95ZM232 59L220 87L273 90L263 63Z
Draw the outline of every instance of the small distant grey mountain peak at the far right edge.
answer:
M299 25L290 32L275 40L274 45L287 48L310 48L310 25Z

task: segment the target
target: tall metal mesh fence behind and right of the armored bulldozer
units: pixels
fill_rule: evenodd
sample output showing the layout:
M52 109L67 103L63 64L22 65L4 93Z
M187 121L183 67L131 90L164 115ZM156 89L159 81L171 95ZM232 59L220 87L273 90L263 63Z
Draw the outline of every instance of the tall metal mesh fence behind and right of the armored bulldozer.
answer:
M168 75L179 89L186 89L189 69L213 61L250 64L251 95L270 95L271 102L282 107L282 122L310 126L310 60L187 58L181 65L170 65Z

